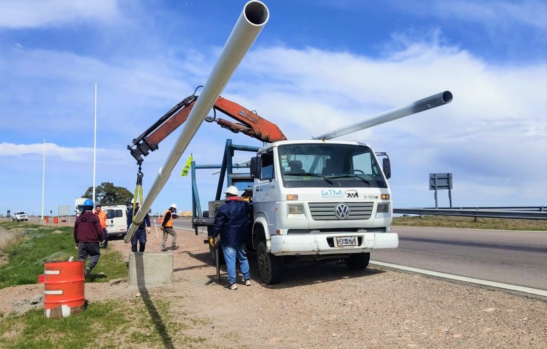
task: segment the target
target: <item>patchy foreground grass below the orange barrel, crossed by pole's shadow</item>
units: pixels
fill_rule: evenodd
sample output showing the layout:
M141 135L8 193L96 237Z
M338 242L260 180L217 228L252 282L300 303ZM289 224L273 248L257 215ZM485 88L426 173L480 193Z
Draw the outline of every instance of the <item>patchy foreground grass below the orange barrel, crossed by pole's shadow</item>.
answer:
M174 319L170 303L148 298L92 303L79 315L47 319L43 310L0 318L0 347L9 349L207 347L184 334L186 318ZM154 312L149 311L150 304ZM161 325L159 325L161 324ZM199 327L201 329L201 327Z

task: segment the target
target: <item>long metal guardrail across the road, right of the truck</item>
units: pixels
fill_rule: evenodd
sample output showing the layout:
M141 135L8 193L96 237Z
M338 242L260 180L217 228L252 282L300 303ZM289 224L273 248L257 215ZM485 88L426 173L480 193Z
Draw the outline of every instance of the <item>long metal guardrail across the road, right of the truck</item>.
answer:
M538 207L539 208L539 207ZM399 214L430 214L433 216L461 216L509 219L538 219L547 220L547 211L527 210L498 210L498 207L478 208L393 208L393 213Z

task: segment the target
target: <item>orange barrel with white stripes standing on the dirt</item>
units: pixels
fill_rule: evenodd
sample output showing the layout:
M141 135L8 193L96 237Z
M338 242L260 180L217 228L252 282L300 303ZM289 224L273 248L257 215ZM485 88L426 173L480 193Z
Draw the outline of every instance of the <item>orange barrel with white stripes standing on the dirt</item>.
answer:
M62 318L84 311L84 261L44 265L44 315Z

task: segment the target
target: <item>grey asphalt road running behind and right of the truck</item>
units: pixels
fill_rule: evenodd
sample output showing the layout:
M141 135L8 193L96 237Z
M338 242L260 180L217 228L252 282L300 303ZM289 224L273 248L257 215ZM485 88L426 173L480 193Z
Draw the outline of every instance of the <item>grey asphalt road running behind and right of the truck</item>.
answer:
M191 228L188 219L173 221ZM399 248L371 260L547 290L547 232L393 227Z

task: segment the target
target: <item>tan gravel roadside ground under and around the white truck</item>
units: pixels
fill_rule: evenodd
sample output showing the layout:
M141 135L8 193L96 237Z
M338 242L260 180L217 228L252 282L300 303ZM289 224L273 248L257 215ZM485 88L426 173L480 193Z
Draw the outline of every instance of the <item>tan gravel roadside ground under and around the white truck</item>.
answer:
M286 270L279 284L266 286L254 255L253 285L225 290L216 283L205 236L177 231L181 249L166 252L174 255L174 282L150 289L150 296L171 301L174 319L197 319L184 333L206 340L193 347L547 348L542 300L376 266L351 272L333 263ZM147 251L159 251L160 244L153 231ZM109 246L130 251L123 240ZM222 277L225 282L225 269ZM39 289L0 290L0 309ZM86 284L91 301L134 294L125 282ZM174 347L187 347L177 333L170 336Z

